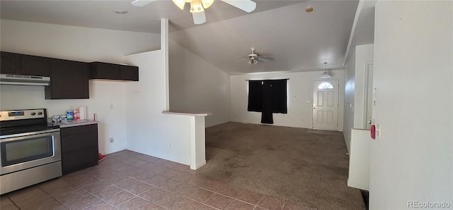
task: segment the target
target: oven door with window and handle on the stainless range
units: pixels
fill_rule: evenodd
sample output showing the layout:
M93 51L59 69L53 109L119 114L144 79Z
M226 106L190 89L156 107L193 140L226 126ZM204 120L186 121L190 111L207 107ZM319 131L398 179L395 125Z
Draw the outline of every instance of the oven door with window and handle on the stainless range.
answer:
M62 160L59 129L1 136L0 175Z

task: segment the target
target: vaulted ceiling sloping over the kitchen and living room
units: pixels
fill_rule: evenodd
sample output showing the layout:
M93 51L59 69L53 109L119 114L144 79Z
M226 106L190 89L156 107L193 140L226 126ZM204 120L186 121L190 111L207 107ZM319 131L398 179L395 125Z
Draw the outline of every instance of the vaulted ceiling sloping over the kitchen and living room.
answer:
M131 1L0 1L1 18L38 23L160 32L170 22L170 39L231 75L343 67L358 1L255 0L246 13L222 1L207 8L207 22L195 25L172 1L135 7ZM306 7L314 11L307 13ZM124 10L128 13L114 13ZM250 65L237 61L251 53L267 56Z

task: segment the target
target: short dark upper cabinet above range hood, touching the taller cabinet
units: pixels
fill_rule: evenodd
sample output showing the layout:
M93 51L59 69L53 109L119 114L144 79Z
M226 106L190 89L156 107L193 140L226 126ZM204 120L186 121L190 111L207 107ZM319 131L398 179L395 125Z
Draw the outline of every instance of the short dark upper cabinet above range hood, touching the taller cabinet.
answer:
M50 76L51 58L21 55L21 75Z

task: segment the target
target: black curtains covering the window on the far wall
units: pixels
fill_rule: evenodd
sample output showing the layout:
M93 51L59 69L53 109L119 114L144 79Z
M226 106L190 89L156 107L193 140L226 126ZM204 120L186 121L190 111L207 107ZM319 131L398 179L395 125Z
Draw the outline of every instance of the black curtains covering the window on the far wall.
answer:
M273 113L287 113L287 79L249 80L247 110L261 112L261 123L268 124Z

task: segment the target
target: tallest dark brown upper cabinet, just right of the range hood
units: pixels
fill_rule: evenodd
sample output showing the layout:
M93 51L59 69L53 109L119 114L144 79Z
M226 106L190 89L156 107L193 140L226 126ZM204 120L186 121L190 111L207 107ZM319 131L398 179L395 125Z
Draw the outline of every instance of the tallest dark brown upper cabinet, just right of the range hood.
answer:
M45 99L88 99L89 63L52 59Z

